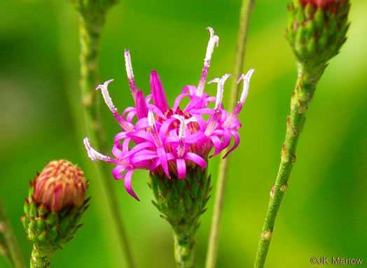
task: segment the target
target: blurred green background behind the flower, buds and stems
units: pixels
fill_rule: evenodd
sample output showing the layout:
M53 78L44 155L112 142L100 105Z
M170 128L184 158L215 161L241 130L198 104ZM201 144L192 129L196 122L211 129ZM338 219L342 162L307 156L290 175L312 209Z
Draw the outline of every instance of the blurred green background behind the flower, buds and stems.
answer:
M256 2L244 69L256 72L240 114L242 142L230 162L218 267L254 264L296 79L284 38L288 1ZM349 38L331 60L307 113L268 268L312 267L310 258L321 256L363 258L367 267L367 2L351 2ZM183 85L198 83L209 40L206 27L220 37L208 78L233 72L239 11L239 0L121 0L107 16L100 55L100 82L115 79L109 89L119 111L133 103L124 48L131 52L144 94L156 69L173 104ZM50 160L68 159L82 168L89 161L76 133L74 118L80 115L71 108L79 105L78 49L78 17L67 1L1 1L0 197L27 260L32 244L19 218L29 179ZM230 83L225 104L229 88ZM206 87L210 94L215 90ZM111 147L120 128L104 105L102 118ZM218 157L209 164L214 188L217 164ZM85 225L55 254L52 267L125 267L101 189L93 174L85 173L92 195ZM138 267L174 267L172 233L151 205L147 176L147 171L133 176L141 202L127 195L123 181L113 181L127 232ZM205 262L213 201L198 231L198 267ZM3 258L0 267L9 267Z

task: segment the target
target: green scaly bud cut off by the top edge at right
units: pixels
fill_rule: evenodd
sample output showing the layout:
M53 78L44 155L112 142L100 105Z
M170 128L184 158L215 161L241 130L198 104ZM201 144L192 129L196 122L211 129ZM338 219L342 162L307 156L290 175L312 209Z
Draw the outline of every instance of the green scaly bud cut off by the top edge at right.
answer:
M349 0L293 0L289 5L286 37L298 62L319 69L315 78L346 40L349 6Z

